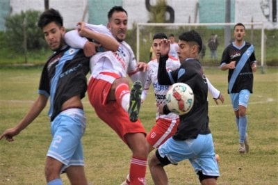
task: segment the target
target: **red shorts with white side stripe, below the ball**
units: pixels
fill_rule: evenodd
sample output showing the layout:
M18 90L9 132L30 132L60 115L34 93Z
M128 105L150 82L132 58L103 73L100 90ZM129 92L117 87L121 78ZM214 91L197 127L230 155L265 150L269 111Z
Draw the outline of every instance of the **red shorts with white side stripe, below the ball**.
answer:
M147 142L149 145L152 145L152 147L158 148L165 140L176 133L178 125L179 118L173 120L158 118L154 127L152 127L149 134L147 134Z

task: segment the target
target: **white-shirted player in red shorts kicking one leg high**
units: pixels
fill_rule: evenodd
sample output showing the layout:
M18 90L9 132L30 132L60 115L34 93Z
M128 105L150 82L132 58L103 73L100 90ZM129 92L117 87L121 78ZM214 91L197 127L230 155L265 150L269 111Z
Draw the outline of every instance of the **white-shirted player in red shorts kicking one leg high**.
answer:
M140 81L144 81L141 71L147 70L147 64L137 63L131 47L124 41L127 13L122 6L114 6L109 10L107 28L120 46L116 52L98 52L90 59L92 75L88 84L88 96L99 118L131 149L129 183L145 184L148 147L146 132L138 119L138 113L142 93ZM81 24L80 29L86 33L97 29L106 32L103 26L92 24ZM81 36L88 36L80 31L79 33ZM127 76L135 81L131 91ZM136 81L137 79L141 80Z

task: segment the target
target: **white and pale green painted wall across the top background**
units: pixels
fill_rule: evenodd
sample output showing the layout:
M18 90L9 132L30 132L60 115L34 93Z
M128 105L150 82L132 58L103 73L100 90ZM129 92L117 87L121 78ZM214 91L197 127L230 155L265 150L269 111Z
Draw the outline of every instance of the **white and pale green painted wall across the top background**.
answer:
M68 29L81 20L92 24L106 24L107 13L112 6L123 6L129 14L129 29L133 23L149 21L148 6L155 6L157 0L50 0L49 8L56 8L64 17ZM264 22L267 29L278 29L277 0L231 0L231 22ZM170 22L224 22L224 0L166 0L170 11L166 17ZM4 30L4 17L22 10L44 10L43 0L1 0L0 30ZM86 6L88 6L86 8ZM274 11L276 9L276 12ZM276 13L276 15L273 15Z

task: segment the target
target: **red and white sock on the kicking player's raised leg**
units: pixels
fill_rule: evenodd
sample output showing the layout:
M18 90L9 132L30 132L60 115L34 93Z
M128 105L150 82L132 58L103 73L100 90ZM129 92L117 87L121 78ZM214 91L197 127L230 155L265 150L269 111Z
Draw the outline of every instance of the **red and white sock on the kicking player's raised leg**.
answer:
M117 88L115 89L115 98L118 104L126 110L126 105L129 104L129 99L123 99L124 95L129 94L129 86L126 83L121 83ZM129 95L128 95L129 97Z

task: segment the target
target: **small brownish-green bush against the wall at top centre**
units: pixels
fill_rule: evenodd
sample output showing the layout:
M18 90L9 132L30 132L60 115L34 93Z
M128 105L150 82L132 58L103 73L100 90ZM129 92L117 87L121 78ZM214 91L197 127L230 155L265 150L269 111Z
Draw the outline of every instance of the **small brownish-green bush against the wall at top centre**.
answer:
M156 6L152 6L150 9L150 21L156 23L166 22L165 12L166 12L166 2L165 0L156 1Z

